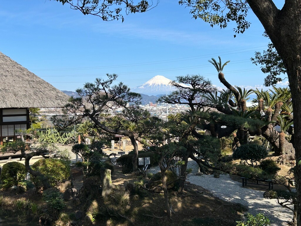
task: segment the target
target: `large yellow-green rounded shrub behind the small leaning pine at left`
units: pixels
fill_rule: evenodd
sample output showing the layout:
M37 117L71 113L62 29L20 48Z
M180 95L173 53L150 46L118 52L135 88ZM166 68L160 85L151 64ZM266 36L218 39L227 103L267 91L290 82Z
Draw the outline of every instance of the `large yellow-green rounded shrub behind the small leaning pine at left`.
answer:
M35 162L32 167L33 170L39 171L45 177L47 177L51 186L58 186L70 177L70 165L62 159L40 159ZM42 187L40 178L31 177L36 187Z

